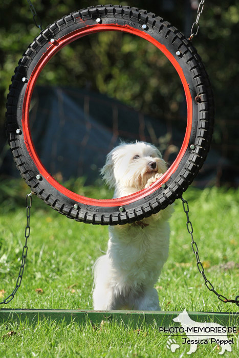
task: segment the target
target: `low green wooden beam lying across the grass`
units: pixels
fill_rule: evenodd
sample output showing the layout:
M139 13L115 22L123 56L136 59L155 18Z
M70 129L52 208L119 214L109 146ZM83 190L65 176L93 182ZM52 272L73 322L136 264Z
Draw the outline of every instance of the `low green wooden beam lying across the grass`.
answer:
M67 324L75 321L93 324L101 321L123 322L125 325L140 326L143 323L158 327L179 326L172 321L180 312L171 311L93 311L82 309L0 309L0 323L7 321L25 321L34 323L38 320L63 321ZM239 326L239 312L188 312L193 321L214 322L227 327Z

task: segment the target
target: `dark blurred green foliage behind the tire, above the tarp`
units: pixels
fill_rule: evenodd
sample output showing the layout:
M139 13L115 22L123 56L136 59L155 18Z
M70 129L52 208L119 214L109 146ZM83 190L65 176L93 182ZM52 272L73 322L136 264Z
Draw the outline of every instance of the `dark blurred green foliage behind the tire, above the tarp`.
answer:
M100 0L35 0L32 3L43 29L70 12L105 4ZM132 0L118 4L154 12L189 37L199 2ZM27 0L2 0L0 8L0 173L6 176L12 174L11 157L6 157L9 147L4 129L8 87L18 60L39 29L33 23ZM205 181L208 185L237 187L239 183L238 21L239 0L225 0L221 4L206 0L198 36L192 41L205 63L215 97L214 159L208 164L214 174L211 180ZM172 145L171 127L183 130L185 125L185 104L178 76L151 44L143 45L140 38L119 36L114 32L100 33L75 41L54 56L37 84L80 88L86 94L87 91L98 93L150 118L160 117L166 121L167 132L161 139L157 137L159 145ZM53 174L59 174L61 179L60 173L53 170Z

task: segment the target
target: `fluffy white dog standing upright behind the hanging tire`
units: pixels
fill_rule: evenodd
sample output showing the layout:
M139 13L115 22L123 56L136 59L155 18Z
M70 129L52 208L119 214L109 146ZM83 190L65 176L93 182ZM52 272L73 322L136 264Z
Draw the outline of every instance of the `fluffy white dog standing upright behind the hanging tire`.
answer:
M113 149L101 173L116 198L147 188L166 169L154 145L136 142ZM108 250L93 267L94 309L160 310L154 285L168 256L171 213L168 206L140 221L109 227Z

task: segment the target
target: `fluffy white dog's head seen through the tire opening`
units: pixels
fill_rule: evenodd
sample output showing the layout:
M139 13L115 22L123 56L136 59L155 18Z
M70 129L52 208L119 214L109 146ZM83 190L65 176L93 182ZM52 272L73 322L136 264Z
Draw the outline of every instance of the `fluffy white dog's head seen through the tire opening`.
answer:
M108 153L101 169L104 180L111 188L144 188L156 173L165 173L166 164L160 151L144 142L121 143Z

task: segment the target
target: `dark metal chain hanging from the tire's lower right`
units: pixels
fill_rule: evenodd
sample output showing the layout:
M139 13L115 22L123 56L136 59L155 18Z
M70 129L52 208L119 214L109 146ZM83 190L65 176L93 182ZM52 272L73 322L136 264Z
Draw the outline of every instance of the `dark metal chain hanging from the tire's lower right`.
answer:
M190 221L190 218L189 218L189 206L188 206L188 202L187 200L185 200L183 197L181 197L181 200L182 200L182 203L183 203L183 210L187 216L187 231L189 232L189 234L191 235L191 247L192 247L192 251L193 253L195 254L195 257L197 259L197 266L198 266L198 270L200 272L200 274L202 274L203 278L204 278L204 281L205 281L205 285L207 286L207 288L209 289L209 291L212 291L217 297L219 300L221 300L222 302L232 302L232 303L235 303L238 307L239 307L239 296L236 296L235 297L235 300L228 300L225 296L223 295L220 295L218 292L216 292L216 290L214 289L213 285L211 284L211 282L206 278L206 275L204 273L204 268L203 268L203 264L202 262L200 261L200 258L199 258L199 249L198 249L198 245L197 243L194 241L193 239L193 228L192 228L192 223Z

